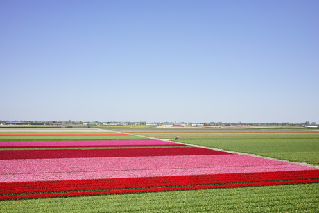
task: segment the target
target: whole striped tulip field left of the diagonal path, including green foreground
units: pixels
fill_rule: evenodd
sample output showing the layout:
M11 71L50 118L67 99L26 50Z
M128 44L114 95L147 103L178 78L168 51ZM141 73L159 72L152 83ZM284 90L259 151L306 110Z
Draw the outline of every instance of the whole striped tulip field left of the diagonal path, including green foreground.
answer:
M173 142L132 133L0 132L0 164L3 212L31 212L37 203L43 204L35 205L39 212L63 212L56 202L67 208L65 212L319 210L317 167L193 146L189 137L184 144L182 139ZM259 201L262 193L268 204ZM231 194L242 196L232 199ZM152 197L153 204L132 203L142 197ZM170 197L175 205L166 200ZM219 198L219 206L213 207ZM299 207L292 204L294 199ZM112 207L106 201L112 201ZM71 205L74 202L78 208ZM279 206L285 202L285 207Z

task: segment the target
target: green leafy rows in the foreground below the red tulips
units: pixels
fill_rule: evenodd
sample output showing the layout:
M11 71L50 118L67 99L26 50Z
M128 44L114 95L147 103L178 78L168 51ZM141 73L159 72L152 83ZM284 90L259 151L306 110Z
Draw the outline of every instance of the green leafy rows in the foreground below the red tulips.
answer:
M319 212L319 184L1 201L1 212Z

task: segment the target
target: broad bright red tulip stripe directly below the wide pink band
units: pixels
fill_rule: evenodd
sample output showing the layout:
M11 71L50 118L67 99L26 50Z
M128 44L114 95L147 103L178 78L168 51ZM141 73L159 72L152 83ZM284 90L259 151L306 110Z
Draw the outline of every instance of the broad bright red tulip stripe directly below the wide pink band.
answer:
M275 180L318 180L319 170L237 173L198 176L164 176L146 178L110 178L92 180L57 180L7 182L0 184L0 194L21 194L49 191L79 191L89 189L124 189L180 185L210 185L233 182L269 182Z

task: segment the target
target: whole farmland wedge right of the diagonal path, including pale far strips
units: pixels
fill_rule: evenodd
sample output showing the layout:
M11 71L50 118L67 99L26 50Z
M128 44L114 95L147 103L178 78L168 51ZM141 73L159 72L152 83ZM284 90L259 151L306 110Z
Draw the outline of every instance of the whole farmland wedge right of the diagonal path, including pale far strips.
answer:
M319 165L316 130L144 130L125 133Z

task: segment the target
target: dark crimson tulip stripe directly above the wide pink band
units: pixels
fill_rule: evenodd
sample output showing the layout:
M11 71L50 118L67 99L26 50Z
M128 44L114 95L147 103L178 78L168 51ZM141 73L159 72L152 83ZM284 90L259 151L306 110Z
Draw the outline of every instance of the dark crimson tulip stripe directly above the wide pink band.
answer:
M175 155L232 155L207 148L117 148L117 149L47 149L47 150L1 150L0 160L12 159L52 159L79 157L141 157Z

